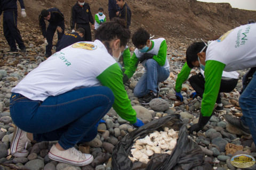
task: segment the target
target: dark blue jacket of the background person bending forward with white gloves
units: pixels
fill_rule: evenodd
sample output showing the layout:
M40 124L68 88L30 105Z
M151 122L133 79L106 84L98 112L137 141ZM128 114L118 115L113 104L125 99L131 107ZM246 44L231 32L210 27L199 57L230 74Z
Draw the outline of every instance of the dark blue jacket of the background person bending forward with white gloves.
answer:
M51 13L51 18L48 22L53 25L61 26L60 23L64 22L64 15L56 7L49 8L48 11ZM46 38L46 26L43 16L39 15L39 27L42 35Z

